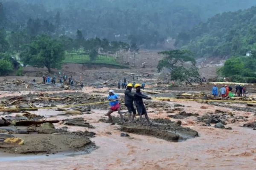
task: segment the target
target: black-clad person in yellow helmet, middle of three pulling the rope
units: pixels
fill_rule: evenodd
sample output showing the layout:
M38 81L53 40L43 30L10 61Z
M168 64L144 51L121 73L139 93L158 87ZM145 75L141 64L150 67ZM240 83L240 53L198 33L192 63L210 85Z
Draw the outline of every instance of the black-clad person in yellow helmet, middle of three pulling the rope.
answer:
M132 90L132 84L129 83L125 90L125 106L127 107L127 110L129 112L129 122L131 122L131 113L133 113L132 121L134 120L134 117L136 115L136 110L133 105L134 96L131 93L131 90Z

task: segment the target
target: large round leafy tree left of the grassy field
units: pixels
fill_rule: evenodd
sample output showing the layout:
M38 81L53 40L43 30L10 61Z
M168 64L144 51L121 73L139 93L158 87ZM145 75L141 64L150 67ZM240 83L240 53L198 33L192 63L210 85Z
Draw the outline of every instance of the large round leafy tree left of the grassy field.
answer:
M63 45L58 40L41 35L20 53L20 59L24 65L46 67L50 73L51 68L60 68L65 59Z

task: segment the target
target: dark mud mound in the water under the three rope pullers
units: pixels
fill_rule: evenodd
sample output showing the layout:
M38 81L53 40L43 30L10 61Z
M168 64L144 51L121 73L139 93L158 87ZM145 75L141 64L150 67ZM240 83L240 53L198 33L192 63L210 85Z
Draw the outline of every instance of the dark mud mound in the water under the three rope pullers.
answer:
M113 117L115 122L121 122L119 117ZM99 121L108 123L108 119L100 119ZM188 127L182 127L181 122L166 121L165 119L152 120L154 125L148 125L145 121L141 125L140 119L135 119L134 122L122 123L118 130L127 133L135 133L146 136L153 136L159 139L164 139L171 142L179 142L189 138L198 136L198 132Z

